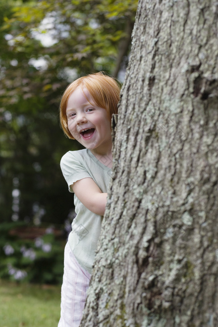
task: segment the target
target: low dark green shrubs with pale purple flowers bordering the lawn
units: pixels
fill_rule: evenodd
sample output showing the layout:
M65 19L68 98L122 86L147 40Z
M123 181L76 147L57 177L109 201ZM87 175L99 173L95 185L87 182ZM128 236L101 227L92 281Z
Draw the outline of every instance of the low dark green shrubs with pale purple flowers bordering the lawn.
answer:
M26 227L24 223L0 224L0 278L60 284L65 241L57 240L51 229L32 239L19 238L15 233L25 231Z

